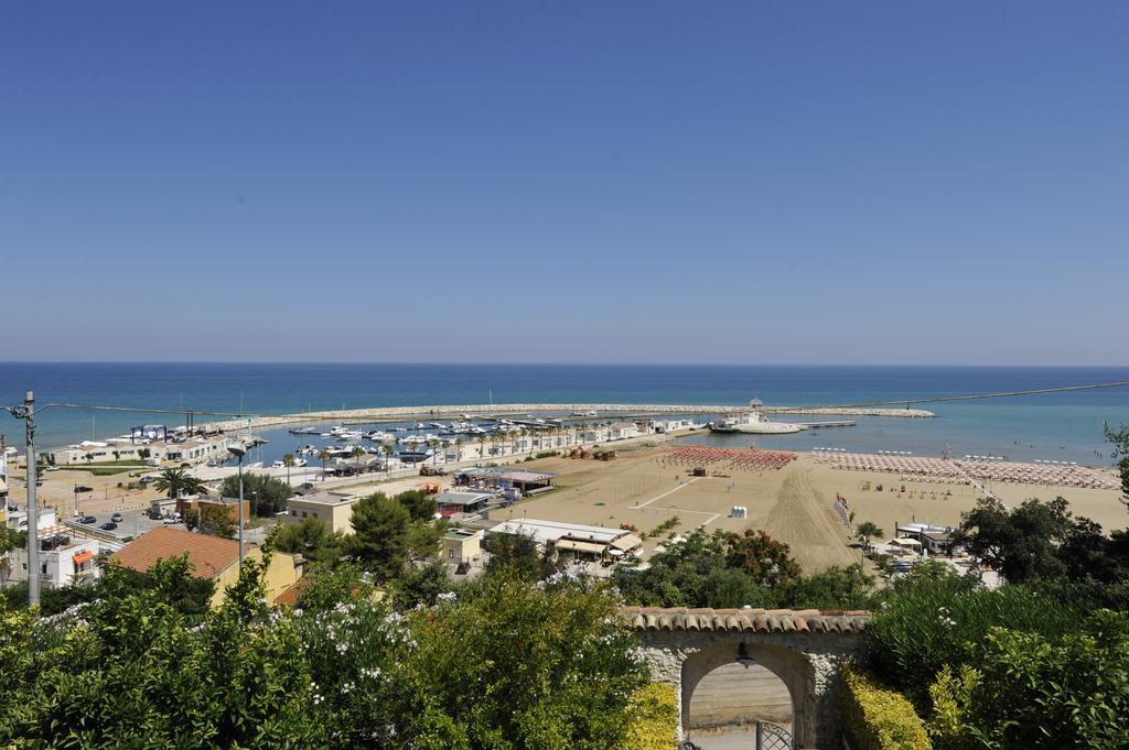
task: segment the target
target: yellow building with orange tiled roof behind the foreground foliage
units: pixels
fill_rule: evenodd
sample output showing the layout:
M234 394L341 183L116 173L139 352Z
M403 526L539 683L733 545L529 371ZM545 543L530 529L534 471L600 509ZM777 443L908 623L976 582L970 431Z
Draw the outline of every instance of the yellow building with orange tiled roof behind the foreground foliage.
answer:
M209 579L216 584L211 606L219 607L227 595L227 588L239 579L239 542L235 539L160 527L122 547L112 559L143 573L159 559L185 554L192 565L192 575ZM262 561L263 550L248 544L245 546L245 558ZM297 583L301 577L301 568L300 555L274 552L263 576L266 601L274 603L283 591Z

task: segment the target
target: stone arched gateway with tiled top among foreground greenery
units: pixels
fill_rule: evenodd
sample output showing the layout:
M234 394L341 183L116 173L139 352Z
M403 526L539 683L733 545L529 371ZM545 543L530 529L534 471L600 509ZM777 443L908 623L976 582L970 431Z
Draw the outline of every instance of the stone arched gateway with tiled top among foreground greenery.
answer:
M860 654L867 612L624 607L622 614L642 638L655 679L679 692L680 738L702 677L751 660L788 686L796 748L842 747L839 665Z

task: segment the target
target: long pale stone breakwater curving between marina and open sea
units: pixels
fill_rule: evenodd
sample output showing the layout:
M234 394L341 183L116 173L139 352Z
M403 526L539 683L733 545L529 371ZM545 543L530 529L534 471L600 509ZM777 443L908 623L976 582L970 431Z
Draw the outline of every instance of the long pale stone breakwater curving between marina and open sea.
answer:
M251 429L270 427L281 424L300 424L306 422L399 422L422 418L460 418L466 414L475 417L513 417L525 414L557 412L571 414L574 412L596 412L597 415L587 418L628 417L628 416L662 416L671 414L721 415L747 412L747 406L701 405L701 404L464 404L443 406L385 406L367 409L336 409L332 412L305 412L299 414L279 414L251 418ZM765 414L842 414L849 416L893 416L893 417L931 417L933 412L904 408L852 408L852 407L804 407L776 406L761 409ZM585 417L574 417L583 420ZM209 426L224 431L242 430L247 426L247 420L229 420L211 422Z

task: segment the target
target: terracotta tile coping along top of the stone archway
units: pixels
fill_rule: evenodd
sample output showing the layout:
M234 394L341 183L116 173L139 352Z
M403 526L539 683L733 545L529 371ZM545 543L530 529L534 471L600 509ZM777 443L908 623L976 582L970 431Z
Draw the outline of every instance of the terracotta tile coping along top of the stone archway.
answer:
M621 607L632 630L724 633L861 633L870 621L865 610L819 609L662 609Z

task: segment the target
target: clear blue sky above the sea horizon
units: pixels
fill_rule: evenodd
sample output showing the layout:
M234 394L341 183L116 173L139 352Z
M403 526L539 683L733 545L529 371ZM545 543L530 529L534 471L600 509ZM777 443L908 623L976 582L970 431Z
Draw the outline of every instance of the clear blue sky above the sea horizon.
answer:
M7 2L0 258L5 360L1122 364L1129 3Z

